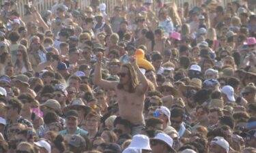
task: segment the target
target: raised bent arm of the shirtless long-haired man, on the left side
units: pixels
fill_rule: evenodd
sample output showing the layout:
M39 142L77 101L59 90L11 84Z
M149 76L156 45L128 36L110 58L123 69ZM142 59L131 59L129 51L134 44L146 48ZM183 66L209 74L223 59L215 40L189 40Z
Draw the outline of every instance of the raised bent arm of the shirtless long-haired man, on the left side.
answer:
M97 64L94 71L94 84L104 89L114 90L115 82L102 80L102 74L101 74L102 52L98 53L96 57L97 57Z

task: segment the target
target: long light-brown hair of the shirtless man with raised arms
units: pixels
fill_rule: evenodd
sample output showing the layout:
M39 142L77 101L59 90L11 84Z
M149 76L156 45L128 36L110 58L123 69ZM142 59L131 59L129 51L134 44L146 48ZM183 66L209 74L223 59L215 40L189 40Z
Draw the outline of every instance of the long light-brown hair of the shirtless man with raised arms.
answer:
M139 80L138 80L136 71L134 70L132 65L130 65L130 63L126 63L126 64L122 65L122 67L126 67L128 69L128 75L130 77L130 80L128 83L129 84L128 92L130 92L130 93L135 92L135 88L139 84ZM123 89L124 85L118 84L117 88Z

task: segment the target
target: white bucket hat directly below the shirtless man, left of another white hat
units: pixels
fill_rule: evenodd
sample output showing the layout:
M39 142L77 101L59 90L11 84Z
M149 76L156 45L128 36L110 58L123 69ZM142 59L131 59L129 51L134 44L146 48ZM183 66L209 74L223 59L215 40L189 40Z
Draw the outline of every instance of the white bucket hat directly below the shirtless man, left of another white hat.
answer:
M139 148L143 150L152 150L150 148L150 138L147 135L134 135L128 148Z

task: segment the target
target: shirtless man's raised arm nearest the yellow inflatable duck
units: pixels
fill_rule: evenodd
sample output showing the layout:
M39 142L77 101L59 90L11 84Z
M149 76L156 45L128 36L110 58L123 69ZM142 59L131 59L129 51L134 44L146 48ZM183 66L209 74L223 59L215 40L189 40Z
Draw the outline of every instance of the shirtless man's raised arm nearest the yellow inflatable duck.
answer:
M139 82L141 83L138 86L139 92L144 94L145 92L147 92L147 88L148 88L147 78L139 69L139 66L136 63L136 58L130 57L130 63L132 64L132 67L135 69L135 71L137 71L138 79L139 79Z

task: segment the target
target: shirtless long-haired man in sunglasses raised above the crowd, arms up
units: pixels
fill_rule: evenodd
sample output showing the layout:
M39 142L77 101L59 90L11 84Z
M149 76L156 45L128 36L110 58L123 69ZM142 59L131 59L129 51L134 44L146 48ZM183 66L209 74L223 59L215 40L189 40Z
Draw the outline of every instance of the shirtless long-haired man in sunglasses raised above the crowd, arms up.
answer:
M124 64L120 67L119 73L117 73L119 82L102 80L101 61L102 53L100 52L97 54L94 84L108 90L115 90L119 104L119 115L133 124L132 135L140 133L144 126L143 107L145 92L148 88L145 75L141 73L135 58L132 57L130 58L131 64Z

